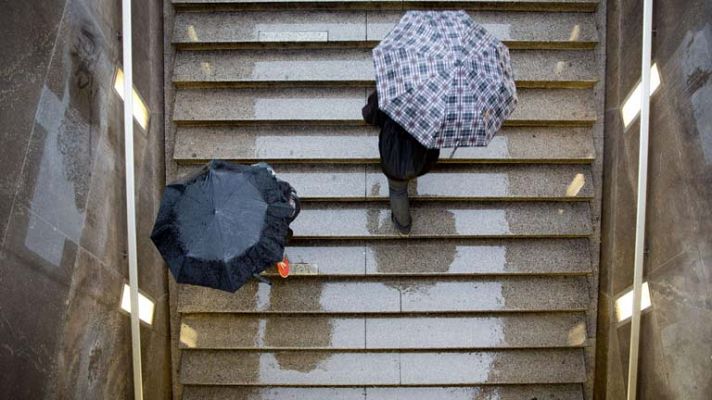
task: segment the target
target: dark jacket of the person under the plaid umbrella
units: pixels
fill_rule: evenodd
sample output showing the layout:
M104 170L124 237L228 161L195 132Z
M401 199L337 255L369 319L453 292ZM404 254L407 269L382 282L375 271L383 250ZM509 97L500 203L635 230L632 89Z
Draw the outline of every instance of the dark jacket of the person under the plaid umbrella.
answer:
M383 173L398 181L424 175L435 165L440 150L428 149L411 136L397 122L378 108L378 95L373 92L361 110L363 119L381 128L378 151L381 154Z

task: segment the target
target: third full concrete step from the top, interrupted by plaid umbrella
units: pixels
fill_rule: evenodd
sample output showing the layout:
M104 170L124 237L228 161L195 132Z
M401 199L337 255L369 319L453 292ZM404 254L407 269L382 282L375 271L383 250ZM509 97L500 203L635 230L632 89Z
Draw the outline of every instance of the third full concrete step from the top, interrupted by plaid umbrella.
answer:
M179 125L365 125L364 88L179 89L173 120ZM520 89L505 126L591 126L592 90Z

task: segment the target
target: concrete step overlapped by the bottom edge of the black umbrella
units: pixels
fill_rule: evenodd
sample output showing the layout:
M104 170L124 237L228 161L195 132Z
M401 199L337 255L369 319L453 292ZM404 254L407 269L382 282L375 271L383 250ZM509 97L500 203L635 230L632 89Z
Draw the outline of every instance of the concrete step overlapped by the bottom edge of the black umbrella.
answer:
M182 313L433 313L583 311L586 277L275 279L236 293L181 285Z

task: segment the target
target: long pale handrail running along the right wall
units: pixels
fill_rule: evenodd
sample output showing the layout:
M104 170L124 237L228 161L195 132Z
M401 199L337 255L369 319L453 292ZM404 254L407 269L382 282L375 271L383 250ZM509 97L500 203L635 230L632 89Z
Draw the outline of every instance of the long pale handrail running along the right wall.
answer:
M640 91L640 147L638 148L638 204L635 218L635 264L633 266L633 317L630 327L628 359L628 400L635 400L638 389L638 350L640 348L640 298L643 285L645 210L648 189L648 133L650 127L650 53L653 30L653 0L643 0L643 51Z

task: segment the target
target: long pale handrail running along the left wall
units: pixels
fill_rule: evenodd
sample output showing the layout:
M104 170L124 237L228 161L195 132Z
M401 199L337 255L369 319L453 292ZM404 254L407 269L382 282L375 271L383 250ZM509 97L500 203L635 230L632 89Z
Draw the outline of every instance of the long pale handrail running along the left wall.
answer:
M124 93L133 91L131 43L131 0L121 1L123 33ZM124 155L126 169L126 226L128 228L129 285L131 286L131 355L133 361L134 399L143 400L141 373L141 331L138 317L138 261L136 257L136 200L133 157L133 96L124 96Z

